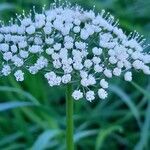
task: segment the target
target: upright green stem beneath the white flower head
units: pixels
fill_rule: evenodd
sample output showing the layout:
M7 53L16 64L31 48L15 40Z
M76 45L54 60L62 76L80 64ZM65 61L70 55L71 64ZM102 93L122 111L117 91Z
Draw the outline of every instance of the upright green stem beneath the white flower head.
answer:
M72 85L68 84L66 87L66 149L74 150L73 143L73 98L72 98Z

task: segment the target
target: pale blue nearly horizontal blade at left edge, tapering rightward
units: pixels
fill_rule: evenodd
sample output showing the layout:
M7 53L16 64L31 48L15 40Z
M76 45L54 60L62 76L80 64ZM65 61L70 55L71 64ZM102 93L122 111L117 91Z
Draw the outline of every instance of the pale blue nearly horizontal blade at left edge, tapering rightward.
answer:
M31 102L6 102L0 103L0 112L17 107L34 106Z

